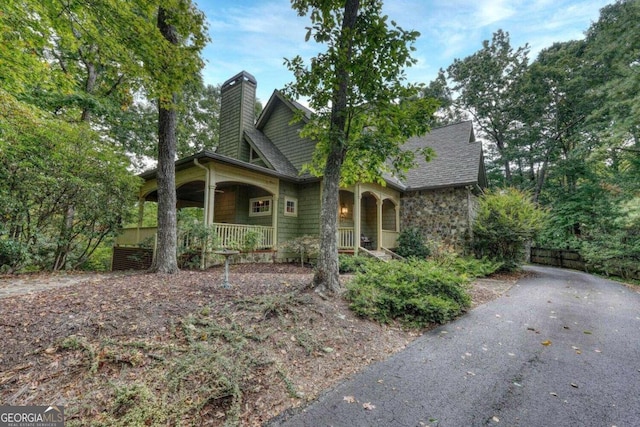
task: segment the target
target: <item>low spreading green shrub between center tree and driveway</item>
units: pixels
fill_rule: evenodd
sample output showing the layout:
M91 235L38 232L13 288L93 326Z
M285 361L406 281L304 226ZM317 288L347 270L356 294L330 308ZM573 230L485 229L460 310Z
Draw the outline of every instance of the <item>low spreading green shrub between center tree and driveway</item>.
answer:
M464 275L434 262L371 263L347 284L346 298L360 316L421 328L460 315L471 304L467 283Z

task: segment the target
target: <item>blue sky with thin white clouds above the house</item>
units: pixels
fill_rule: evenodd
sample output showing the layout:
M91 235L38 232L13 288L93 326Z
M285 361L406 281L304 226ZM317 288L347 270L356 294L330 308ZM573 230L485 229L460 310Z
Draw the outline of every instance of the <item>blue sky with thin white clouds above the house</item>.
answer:
M308 59L318 47L305 43L308 17L298 17L289 0L195 0L205 13L212 41L204 49L208 84L221 84L240 71L258 81L265 104L274 89L293 80L283 58ZM407 30L421 33L418 63L407 69L412 82L429 83L438 69L482 47L498 29L514 47L529 43L531 58L554 42L583 38L599 10L613 0L385 0L384 13Z

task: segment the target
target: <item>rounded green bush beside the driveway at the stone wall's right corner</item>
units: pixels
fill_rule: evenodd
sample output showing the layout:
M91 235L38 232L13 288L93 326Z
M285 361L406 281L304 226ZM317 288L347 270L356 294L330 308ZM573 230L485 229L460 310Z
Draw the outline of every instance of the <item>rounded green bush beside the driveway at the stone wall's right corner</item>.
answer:
M525 259L525 248L544 226L546 212L526 193L510 188L490 191L480 198L473 224L473 249L479 257L516 269Z

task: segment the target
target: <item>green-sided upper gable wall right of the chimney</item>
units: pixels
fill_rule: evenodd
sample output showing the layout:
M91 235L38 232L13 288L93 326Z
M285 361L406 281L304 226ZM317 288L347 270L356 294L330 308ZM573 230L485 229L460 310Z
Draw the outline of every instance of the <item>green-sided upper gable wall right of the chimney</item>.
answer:
M300 139L302 123L290 124L293 112L284 104L278 103L262 132L278 147L298 170L308 163L313 155L315 144L308 139Z

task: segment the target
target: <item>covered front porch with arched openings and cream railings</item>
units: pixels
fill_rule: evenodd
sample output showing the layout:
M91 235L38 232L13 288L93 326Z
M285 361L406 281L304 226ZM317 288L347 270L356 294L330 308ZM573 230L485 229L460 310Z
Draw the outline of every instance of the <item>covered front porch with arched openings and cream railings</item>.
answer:
M137 226L124 228L115 245L145 247L155 253L157 228L143 225L143 218L145 204L157 201L157 183L155 176L145 178ZM179 215L179 253L201 248L202 266L214 250L223 248L271 251L275 259L279 244L318 234L320 192L319 181L297 185L237 165L193 159L176 170L177 208L196 208L198 214L188 219L200 225L195 232L184 231ZM338 249L357 253L361 247L395 248L399 199L397 191L376 184L340 190ZM208 239L199 242L203 232Z

